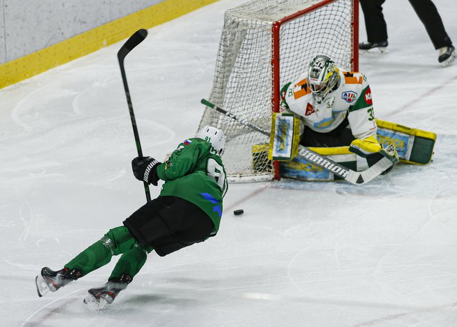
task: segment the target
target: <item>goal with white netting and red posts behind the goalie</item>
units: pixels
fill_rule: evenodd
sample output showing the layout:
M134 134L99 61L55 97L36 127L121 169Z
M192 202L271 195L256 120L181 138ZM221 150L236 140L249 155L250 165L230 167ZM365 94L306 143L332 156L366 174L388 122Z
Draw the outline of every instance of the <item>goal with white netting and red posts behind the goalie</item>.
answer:
M271 130L280 88L307 71L316 55L358 69L358 0L253 0L227 10L209 101L261 129ZM224 165L231 181L271 180L269 138L206 108L199 129L226 136Z

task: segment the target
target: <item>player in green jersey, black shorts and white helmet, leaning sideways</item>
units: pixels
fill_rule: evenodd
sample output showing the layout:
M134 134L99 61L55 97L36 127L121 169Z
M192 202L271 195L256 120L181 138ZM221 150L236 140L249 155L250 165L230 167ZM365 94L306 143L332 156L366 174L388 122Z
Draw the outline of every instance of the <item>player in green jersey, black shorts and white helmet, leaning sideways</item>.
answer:
M95 309L111 304L155 250L165 256L217 234L227 180L221 156L224 133L204 127L195 138L179 144L166 162L134 158L134 176L148 184L165 183L157 198L140 207L123 222L87 247L61 270L42 268L35 278L39 297L89 274L122 254L107 283L91 288L84 299Z

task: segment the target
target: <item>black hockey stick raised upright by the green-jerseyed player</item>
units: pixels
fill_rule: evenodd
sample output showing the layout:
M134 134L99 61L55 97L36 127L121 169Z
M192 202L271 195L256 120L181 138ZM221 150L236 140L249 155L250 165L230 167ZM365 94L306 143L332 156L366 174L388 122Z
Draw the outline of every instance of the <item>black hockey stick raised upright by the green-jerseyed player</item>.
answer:
M147 37L147 30L141 29L134 32L134 34L127 39L125 44L118 51L118 60L120 67L120 74L122 75L122 82L124 84L125 97L127 98L127 105L129 106L130 120L132 120L132 128L135 136L136 151L138 151L138 157L143 157L143 151L141 151L140 136L138 135L138 128L136 127L135 114L133 111L132 98L130 97L129 85L127 84L127 76L125 75L124 59L132 51L133 48L141 44L141 42ZM151 200L151 194L149 191L149 185L143 182L145 187L145 194L147 202Z

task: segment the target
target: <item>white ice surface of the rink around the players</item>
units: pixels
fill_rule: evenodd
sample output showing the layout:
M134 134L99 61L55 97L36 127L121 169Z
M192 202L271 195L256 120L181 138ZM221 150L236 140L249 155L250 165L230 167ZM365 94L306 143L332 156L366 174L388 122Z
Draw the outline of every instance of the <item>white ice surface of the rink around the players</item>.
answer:
M151 28L127 57L146 155L161 160L194 135L223 13L242 2ZM457 42L455 1L434 2ZM116 259L43 298L33 281L145 203L130 168L123 42L0 90L1 326L456 326L457 63L438 64L408 1L386 1L384 12L390 52L361 56L360 69L378 118L438 134L431 165L398 165L363 187L232 184L215 238L150 254L101 313L82 299ZM360 30L366 39L363 17Z

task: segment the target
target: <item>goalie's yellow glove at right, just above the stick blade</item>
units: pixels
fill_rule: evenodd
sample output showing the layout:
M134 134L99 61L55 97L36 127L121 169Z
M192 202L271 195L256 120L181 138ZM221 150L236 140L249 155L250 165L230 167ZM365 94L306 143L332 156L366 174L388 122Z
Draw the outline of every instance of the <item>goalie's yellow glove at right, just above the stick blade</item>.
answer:
M381 145L379 142L377 142L374 136L369 136L363 140L358 138L353 140L349 146L349 151L357 154L357 156L361 156L361 158L366 158L368 167L375 165L375 163L381 160L383 157L391 160L393 163L392 167L398 163L398 154L397 149L395 149L395 145Z

